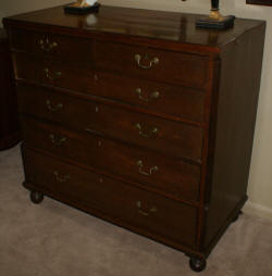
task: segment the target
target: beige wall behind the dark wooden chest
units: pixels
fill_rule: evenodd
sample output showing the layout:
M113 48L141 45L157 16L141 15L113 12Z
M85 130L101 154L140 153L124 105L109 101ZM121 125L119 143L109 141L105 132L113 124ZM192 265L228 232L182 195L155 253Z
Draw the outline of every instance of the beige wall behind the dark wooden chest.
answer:
M210 0L99 0L102 4L153 10L207 13ZM48 8L65 0L1 0L0 16ZM221 0L224 14L267 20L267 41L256 137L246 211L272 217L272 7L248 5L246 0Z

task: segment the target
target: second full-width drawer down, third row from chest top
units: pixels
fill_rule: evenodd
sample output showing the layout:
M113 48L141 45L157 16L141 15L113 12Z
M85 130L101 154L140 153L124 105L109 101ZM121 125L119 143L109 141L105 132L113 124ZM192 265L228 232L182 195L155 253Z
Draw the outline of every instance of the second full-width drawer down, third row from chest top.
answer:
M81 130L201 162L203 134L197 126L30 86L18 86L18 106L21 112Z

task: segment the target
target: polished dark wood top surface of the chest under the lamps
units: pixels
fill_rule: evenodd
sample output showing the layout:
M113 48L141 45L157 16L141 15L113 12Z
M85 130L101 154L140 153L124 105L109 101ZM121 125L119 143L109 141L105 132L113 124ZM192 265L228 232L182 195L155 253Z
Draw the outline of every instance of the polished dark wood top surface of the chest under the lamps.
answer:
M111 34L131 39L152 39L221 48L263 21L236 18L234 28L207 30L196 28L202 15L101 5L98 13L65 14L63 7L29 12L4 18L4 25L66 32L77 36Z

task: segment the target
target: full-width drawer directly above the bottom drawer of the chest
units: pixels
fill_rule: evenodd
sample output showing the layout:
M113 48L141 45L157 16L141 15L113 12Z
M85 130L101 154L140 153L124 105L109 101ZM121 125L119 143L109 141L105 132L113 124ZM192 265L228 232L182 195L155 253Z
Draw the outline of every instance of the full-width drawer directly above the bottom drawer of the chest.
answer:
M96 135L67 130L24 116L23 136L29 148L49 151L98 171L178 199L197 201L200 166Z

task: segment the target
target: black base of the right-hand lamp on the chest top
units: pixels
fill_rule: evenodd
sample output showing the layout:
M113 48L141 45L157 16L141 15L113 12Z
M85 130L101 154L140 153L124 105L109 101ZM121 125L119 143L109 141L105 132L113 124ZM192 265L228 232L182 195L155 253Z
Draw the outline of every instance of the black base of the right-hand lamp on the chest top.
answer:
M234 26L235 16L220 16L219 18L207 16L199 18L196 26L199 28L227 29Z

